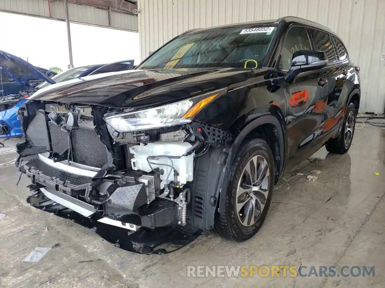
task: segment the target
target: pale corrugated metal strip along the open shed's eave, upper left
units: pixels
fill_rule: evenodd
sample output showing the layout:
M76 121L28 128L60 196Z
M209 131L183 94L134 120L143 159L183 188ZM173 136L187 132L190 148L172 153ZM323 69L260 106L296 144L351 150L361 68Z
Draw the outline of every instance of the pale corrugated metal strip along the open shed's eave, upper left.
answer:
M62 0L1 0L0 11L55 20L65 19ZM107 8L68 3L68 11L71 22L138 31L137 15L122 10L108 10Z

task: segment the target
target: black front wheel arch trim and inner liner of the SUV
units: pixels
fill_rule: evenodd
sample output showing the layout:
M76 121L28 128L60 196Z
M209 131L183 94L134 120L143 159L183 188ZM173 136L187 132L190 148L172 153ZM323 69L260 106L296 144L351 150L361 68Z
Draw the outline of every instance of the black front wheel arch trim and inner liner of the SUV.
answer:
M194 228L213 228L216 210L218 209L219 214L223 213L231 166L239 148L243 142L250 137L264 138L264 140L268 142L269 146L273 147L274 151L272 149L272 152L273 157L275 158L276 166L275 183L282 177L283 169L285 167L285 133L282 124L277 117L271 114L263 115L244 126L231 145L223 147L222 149L212 149L208 155L204 155L206 157L202 157L202 159L199 159L201 157L198 158L198 161L202 161L202 164L199 164L199 167L196 167L197 170L194 170L194 175L198 175L198 170L205 167L204 169L208 172L205 178L210 180L205 180L205 184L203 181L196 184L198 180L194 180L193 190L196 190L194 187L205 187L205 195L203 199L204 205L202 207L203 221L197 219L198 222L196 222L194 220ZM216 169L213 169L214 167ZM198 190L196 192L198 192ZM194 192L194 194L196 193ZM196 217L194 217L196 198L199 197L192 198L193 205L191 210L193 213L192 218L194 219L196 219Z

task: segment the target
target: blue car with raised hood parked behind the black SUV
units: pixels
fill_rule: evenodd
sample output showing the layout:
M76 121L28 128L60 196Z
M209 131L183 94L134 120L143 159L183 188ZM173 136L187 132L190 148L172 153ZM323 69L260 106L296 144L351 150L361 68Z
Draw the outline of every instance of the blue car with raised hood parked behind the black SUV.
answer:
M26 88L16 95L2 96L0 93L0 139L23 136L20 120L17 119L17 111L27 101L28 97L37 90L51 84L75 78L132 70L134 67L134 60L124 60L109 64L76 67L50 78L27 61L0 50L0 69L2 74L6 74L16 83L22 84ZM44 82L41 83L42 81Z

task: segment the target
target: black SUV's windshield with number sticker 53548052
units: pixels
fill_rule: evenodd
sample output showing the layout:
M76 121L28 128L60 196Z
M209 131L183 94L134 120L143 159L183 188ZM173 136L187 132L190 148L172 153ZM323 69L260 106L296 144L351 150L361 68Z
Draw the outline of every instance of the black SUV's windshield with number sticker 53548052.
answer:
M247 60L253 60L249 62L256 68L257 63L262 64L275 30L269 24L192 32L167 43L137 69L243 68Z

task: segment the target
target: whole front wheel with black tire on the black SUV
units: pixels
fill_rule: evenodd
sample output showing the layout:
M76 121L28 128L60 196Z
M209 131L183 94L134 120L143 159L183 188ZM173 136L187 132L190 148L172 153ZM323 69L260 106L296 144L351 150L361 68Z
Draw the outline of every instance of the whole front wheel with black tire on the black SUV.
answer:
M253 161L254 166L250 166L250 161ZM246 169L246 165L248 165L248 169ZM254 186L251 186L256 189L254 191L248 187L249 183L252 183L250 174L255 181ZM243 242L253 237L261 228L269 210L274 176L273 153L266 141L252 139L244 143L239 149L230 171L225 209L221 215L219 212L216 213L213 233L236 242ZM260 179L258 180L258 178ZM252 203L255 203L255 206ZM237 204L238 207L242 207L239 213L236 208ZM250 214L251 212L254 214Z

